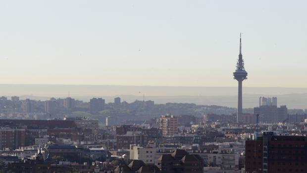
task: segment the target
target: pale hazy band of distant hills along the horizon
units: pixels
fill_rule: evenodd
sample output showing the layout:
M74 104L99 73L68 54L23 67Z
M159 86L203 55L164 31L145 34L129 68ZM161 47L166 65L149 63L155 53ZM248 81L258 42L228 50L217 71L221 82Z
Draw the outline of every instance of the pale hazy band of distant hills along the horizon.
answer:
M112 86L112 85L26 85L0 84L0 96L20 96L48 100L51 97L71 97L89 101L92 97L103 97L106 102L113 102L114 97L133 102L135 100L153 100L155 103L195 103L200 105L219 105L236 107L236 87L172 87L172 86ZM258 105L260 96L277 96L278 105L288 108L307 108L307 88L243 88L243 107L253 108Z

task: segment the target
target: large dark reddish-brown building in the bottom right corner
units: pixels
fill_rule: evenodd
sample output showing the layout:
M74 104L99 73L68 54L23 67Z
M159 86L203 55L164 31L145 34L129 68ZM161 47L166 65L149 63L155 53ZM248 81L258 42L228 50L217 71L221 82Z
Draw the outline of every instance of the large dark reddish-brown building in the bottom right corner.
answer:
M246 173L306 173L307 137L264 132L245 145Z

